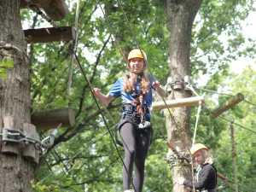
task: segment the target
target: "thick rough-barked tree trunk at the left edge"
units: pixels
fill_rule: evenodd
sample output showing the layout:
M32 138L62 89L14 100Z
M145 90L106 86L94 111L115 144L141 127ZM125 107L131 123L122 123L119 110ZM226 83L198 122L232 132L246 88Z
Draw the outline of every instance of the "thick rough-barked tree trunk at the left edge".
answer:
M0 130L6 117L11 117L13 129L22 130L30 123L30 77L26 57L26 43L20 23L20 0L1 0L0 3L0 62L3 58L14 61L8 68L7 79L0 79ZM6 126L6 125L5 125ZM8 128L8 127L7 127ZM5 144L2 143L2 148ZM18 154L0 154L0 191L32 191L34 178L32 163Z

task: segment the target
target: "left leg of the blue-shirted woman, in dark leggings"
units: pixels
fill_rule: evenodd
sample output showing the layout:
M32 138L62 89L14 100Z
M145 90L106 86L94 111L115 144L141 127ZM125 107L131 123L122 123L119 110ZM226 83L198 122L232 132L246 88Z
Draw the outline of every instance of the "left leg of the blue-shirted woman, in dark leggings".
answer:
M132 168L135 159L135 131L131 123L125 123L120 129L120 136L122 138L124 148L125 148L125 165L123 166L123 185L124 190L130 189L132 177ZM125 169L126 167L126 169ZM129 172L130 177L127 172Z

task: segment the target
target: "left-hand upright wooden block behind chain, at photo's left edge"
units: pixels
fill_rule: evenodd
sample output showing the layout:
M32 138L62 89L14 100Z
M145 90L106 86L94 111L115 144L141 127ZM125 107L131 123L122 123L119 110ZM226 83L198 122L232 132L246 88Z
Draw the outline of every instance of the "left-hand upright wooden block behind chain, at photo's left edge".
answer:
M4 128L15 129L15 120L13 117L5 116L3 118ZM3 143L2 144L3 154L19 154L19 143Z

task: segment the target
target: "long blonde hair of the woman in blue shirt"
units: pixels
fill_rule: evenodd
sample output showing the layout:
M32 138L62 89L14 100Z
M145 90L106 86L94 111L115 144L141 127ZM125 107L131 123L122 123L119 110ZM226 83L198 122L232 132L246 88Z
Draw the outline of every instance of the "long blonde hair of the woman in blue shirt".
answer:
M141 90L143 91L143 94L146 94L146 93L148 93L148 90L149 90L148 89L149 88L149 77L148 77L148 74L144 71L140 74L140 76L142 78ZM128 72L125 74L125 76L124 76L125 93L129 93L129 92L131 92L131 90L133 90L134 84L137 81L137 77L138 77L138 75L135 73Z

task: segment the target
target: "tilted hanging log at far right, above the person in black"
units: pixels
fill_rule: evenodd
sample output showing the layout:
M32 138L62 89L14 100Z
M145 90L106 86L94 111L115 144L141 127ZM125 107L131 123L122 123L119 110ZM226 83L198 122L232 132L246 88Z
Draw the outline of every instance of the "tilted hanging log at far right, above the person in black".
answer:
M217 118L220 114L226 112L230 108L236 106L239 102L243 101L244 96L241 93L237 93L236 96L230 97L230 99L222 103L218 108L212 111L211 117Z

